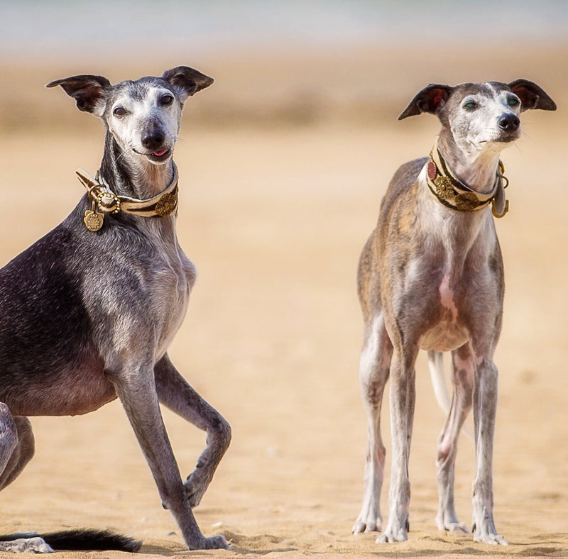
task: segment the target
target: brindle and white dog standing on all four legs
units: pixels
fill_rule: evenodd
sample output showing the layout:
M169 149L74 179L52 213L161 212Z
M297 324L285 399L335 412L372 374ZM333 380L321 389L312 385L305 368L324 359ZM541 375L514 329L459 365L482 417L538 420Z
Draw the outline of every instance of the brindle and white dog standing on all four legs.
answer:
M354 533L382 528L379 498L385 447L380 414L390 376L389 514L377 541L408 539L414 367L418 350L423 349L434 370L443 363L442 352L452 352L452 404L437 445L437 526L469 533L454 509L454 463L459 431L473 406L474 540L507 543L493 522L498 379L493 353L501 331L504 291L493 215L503 216L508 208L499 154L520 137L519 115L527 109L553 111L556 105L525 79L456 87L430 84L398 117L435 114L442 130L430 157L405 163L395 172L359 260L364 316L359 380L368 442L363 505ZM443 380L443 370L441 375Z

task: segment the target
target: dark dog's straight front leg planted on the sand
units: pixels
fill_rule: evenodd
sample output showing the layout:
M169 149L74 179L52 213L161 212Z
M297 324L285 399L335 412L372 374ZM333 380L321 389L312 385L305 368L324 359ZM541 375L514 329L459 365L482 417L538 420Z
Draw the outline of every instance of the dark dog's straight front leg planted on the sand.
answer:
M138 365L114 375L114 384L142 452L148 461L163 506L171 511L189 549L228 548L223 536L205 538L197 526L178 463L165 431L153 367Z

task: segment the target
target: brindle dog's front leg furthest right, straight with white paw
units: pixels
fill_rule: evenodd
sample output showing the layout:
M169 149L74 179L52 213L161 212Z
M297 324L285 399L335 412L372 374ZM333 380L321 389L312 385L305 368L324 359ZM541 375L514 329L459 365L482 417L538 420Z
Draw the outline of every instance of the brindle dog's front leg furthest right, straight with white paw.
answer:
M474 380L474 436L476 477L473 485L474 541L507 545L493 521L493 436L497 411L498 370L491 358L476 367Z

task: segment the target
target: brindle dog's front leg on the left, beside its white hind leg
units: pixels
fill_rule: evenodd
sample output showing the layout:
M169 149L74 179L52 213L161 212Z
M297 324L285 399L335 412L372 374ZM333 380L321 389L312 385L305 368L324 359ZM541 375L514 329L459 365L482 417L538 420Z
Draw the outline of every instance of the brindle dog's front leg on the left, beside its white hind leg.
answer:
M391 364L391 488L388 494L388 524L378 537L378 543L405 541L410 529L408 459L416 399L414 363L418 350L415 346L405 350L401 350L401 347L402 344L396 344Z

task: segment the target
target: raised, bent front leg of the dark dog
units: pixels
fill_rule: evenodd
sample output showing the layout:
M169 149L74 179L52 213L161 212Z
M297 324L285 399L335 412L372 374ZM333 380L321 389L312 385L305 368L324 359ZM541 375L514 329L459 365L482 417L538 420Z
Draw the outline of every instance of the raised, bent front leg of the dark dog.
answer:
M207 447L185 481L191 507L200 504L214 472L231 442L231 428L223 417L195 392L175 369L168 355L154 367L160 402L197 428L207 432Z

